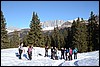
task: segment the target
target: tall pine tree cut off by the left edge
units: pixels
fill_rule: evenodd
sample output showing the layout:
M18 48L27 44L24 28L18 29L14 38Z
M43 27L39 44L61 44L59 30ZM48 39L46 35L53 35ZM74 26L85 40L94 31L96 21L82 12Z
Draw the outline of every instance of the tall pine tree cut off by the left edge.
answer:
M3 12L1 11L1 49L9 47L9 40L5 22L6 20L4 18Z

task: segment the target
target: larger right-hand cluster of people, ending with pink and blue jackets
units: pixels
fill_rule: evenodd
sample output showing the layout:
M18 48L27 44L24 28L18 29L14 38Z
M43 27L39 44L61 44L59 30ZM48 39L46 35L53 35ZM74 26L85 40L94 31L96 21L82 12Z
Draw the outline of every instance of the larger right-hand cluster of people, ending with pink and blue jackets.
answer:
M61 59L72 60L72 55L74 55L74 59L77 59L77 52L77 48L61 48ZM48 46L45 47L45 57L48 57ZM56 47L51 47L51 59L58 59Z

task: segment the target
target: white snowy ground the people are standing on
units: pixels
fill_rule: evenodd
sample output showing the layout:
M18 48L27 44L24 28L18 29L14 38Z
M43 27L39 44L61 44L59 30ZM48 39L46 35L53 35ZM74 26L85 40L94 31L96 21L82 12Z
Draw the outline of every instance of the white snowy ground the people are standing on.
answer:
M22 59L18 58L18 48L9 48L1 50L1 66L99 66L99 51L78 53L78 58L71 61L64 59L50 59L51 50L49 49L49 57L44 57L45 49L34 47L32 51L32 60L28 60L27 48L22 54ZM40 56L41 54L42 56ZM60 58L60 51L57 51Z

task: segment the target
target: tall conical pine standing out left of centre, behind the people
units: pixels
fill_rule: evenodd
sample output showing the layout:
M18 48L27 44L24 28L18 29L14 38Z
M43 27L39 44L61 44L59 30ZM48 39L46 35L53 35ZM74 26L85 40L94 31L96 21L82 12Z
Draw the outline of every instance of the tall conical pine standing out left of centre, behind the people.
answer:
M30 23L30 31L28 33L27 43L28 45L33 45L33 46L44 45L40 19L38 18L37 13L35 14L35 12L33 12L32 21Z

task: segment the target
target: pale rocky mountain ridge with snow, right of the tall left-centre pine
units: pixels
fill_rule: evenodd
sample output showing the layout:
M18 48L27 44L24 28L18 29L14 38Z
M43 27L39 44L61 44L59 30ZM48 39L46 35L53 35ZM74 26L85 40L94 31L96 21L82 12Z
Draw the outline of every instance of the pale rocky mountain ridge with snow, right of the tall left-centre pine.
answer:
M75 18L73 20L77 20L78 18ZM58 25L59 28L65 28L65 27L71 27L73 20L53 20L53 21L45 21L45 22L41 22L42 25L42 29L43 31L45 30L53 30L54 27L56 27ZM81 20L81 18L80 18ZM87 23L87 20L85 20L85 23Z

